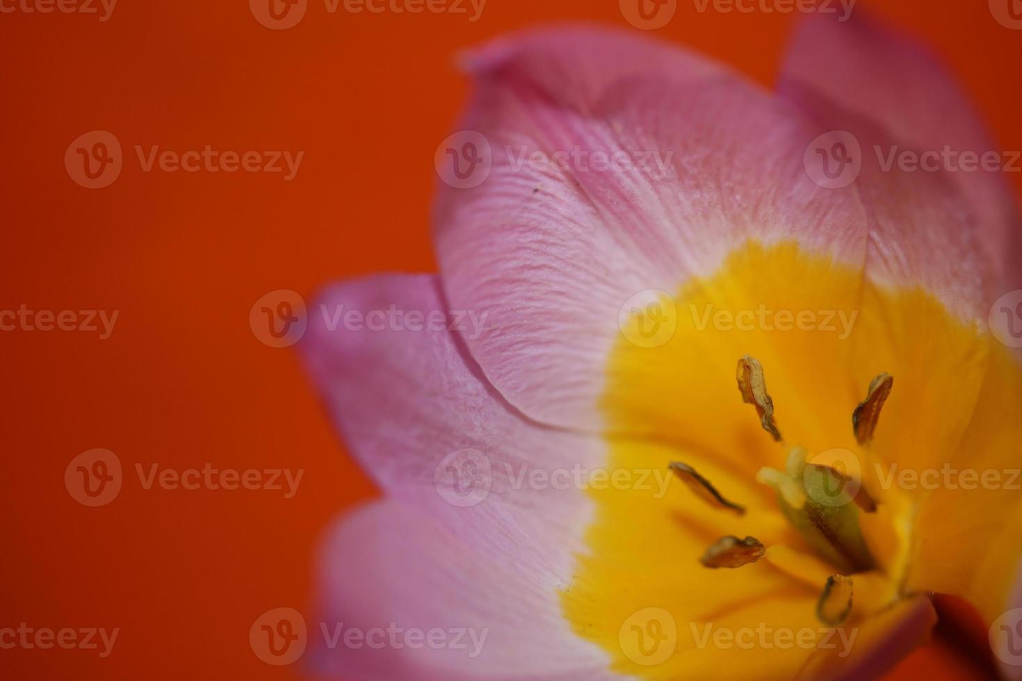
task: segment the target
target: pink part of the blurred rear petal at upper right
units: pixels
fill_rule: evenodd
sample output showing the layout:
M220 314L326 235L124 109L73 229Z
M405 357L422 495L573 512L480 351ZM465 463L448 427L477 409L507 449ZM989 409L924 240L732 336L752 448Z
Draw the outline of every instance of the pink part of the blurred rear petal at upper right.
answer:
M997 150L928 49L862 14L846 22L814 15L795 36L780 91L826 126L860 138L869 167L860 184L879 213L871 233L875 273L921 282L977 319L985 319L998 295L1022 286L1022 222L1003 172L964 172L958 159L951 161L958 171L912 177L877 167L875 145L885 155L893 145L917 152Z

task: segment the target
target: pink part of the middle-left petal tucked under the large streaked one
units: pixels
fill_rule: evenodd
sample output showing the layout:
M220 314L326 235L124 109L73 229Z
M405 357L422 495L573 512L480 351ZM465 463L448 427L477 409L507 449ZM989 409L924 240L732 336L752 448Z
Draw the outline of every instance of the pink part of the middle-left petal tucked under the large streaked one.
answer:
M604 445L523 419L448 328L463 323L471 336L474 323L447 311L432 276L334 286L310 307L306 362L352 452L384 491L486 560L513 561L553 594L570 577L592 514L576 481L605 466ZM429 326L437 314L443 322Z

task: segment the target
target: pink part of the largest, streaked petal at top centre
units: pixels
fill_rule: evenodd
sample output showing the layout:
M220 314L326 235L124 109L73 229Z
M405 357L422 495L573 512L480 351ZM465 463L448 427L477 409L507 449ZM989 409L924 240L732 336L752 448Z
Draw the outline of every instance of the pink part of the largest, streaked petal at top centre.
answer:
M493 171L474 189L440 187L436 247L452 304L490 313L466 339L473 357L528 416L600 428L619 310L712 272L747 239L862 263L857 196L803 166L823 131L726 69L596 30L526 35L469 63L477 92L461 128L489 139ZM576 148L656 153L662 177L638 156L617 172L519 163Z

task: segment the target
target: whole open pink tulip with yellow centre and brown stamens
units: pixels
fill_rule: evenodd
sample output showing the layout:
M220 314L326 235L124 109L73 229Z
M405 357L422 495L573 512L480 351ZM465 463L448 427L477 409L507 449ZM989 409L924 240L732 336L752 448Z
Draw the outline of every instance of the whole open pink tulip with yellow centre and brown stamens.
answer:
M1022 373L986 324L1018 215L947 166L993 147L926 51L812 17L777 93L590 28L466 63L471 143L439 157L483 176L440 188L440 274L339 284L320 307L367 324L305 341L385 491L320 567L323 615L378 635L323 667L870 678L933 594L1000 635Z

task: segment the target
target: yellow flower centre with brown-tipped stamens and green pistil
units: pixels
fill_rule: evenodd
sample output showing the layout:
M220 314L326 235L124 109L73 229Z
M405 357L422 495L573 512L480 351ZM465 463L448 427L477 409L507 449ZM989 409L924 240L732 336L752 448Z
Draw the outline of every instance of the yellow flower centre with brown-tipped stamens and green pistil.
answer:
M929 590L996 616L1018 549L989 542L1019 527L1018 492L904 475L1010 477L1017 417L974 415L1019 408L1022 378L982 329L921 289L750 242L622 332L602 406L608 468L628 475L590 489L588 550L561 591L614 671L793 677ZM998 504L1003 522L948 522ZM996 574L982 583L978 565Z

